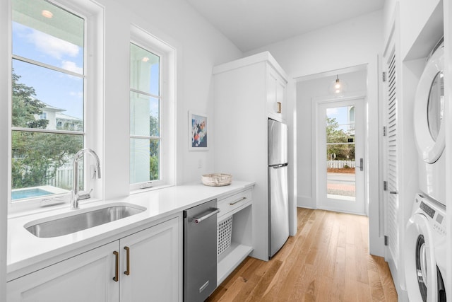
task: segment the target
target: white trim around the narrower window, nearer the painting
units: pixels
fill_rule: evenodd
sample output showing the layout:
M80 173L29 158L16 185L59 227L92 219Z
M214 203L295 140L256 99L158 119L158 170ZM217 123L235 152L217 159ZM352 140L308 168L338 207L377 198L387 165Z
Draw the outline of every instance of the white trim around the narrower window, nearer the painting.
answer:
M175 185L176 183L176 50L155 35L131 24L130 42L161 58L160 66L160 180L140 189L145 182L130 185L131 194ZM129 115L130 118L130 115ZM130 124L130 123L129 123ZM130 155L129 155L130 158Z

